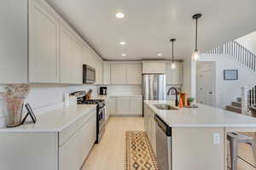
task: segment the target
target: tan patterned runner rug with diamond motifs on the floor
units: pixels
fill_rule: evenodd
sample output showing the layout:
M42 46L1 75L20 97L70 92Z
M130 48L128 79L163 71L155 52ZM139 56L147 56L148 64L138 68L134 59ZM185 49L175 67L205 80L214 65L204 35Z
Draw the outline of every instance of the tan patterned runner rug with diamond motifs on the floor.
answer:
M127 131L125 138L125 170L160 170L145 132Z

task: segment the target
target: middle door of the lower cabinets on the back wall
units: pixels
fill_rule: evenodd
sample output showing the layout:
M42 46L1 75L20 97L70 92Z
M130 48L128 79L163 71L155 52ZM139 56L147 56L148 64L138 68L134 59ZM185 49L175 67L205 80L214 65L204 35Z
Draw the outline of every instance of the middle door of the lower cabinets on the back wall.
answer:
M130 97L116 98L116 114L117 115L131 115Z

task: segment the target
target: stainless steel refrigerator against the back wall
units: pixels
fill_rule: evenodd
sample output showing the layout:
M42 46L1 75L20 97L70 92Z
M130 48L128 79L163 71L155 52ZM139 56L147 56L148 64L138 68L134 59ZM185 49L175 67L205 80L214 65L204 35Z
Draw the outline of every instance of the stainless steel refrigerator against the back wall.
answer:
M166 75L143 74L143 100L166 99Z

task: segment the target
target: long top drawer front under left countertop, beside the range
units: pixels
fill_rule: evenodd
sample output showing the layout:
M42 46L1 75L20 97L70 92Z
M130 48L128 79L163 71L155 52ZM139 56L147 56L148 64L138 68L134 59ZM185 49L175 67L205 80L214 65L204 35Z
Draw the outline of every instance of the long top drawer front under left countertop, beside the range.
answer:
M69 138L73 136L76 131L79 130L80 127L84 125L84 123L90 121L92 116L96 116L96 108L90 111L89 113L85 114L78 121L73 122L69 127L61 131L59 133L59 146L65 144ZM96 133L96 132L95 132Z

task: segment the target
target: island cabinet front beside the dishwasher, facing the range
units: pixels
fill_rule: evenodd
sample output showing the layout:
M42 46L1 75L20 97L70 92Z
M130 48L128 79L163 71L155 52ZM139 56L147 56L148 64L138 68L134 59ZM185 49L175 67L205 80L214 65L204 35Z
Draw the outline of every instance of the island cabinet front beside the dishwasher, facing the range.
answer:
M144 105L144 125L148 138L152 144L154 153L156 153L156 137L155 137L155 122L154 111L148 108L148 105Z

